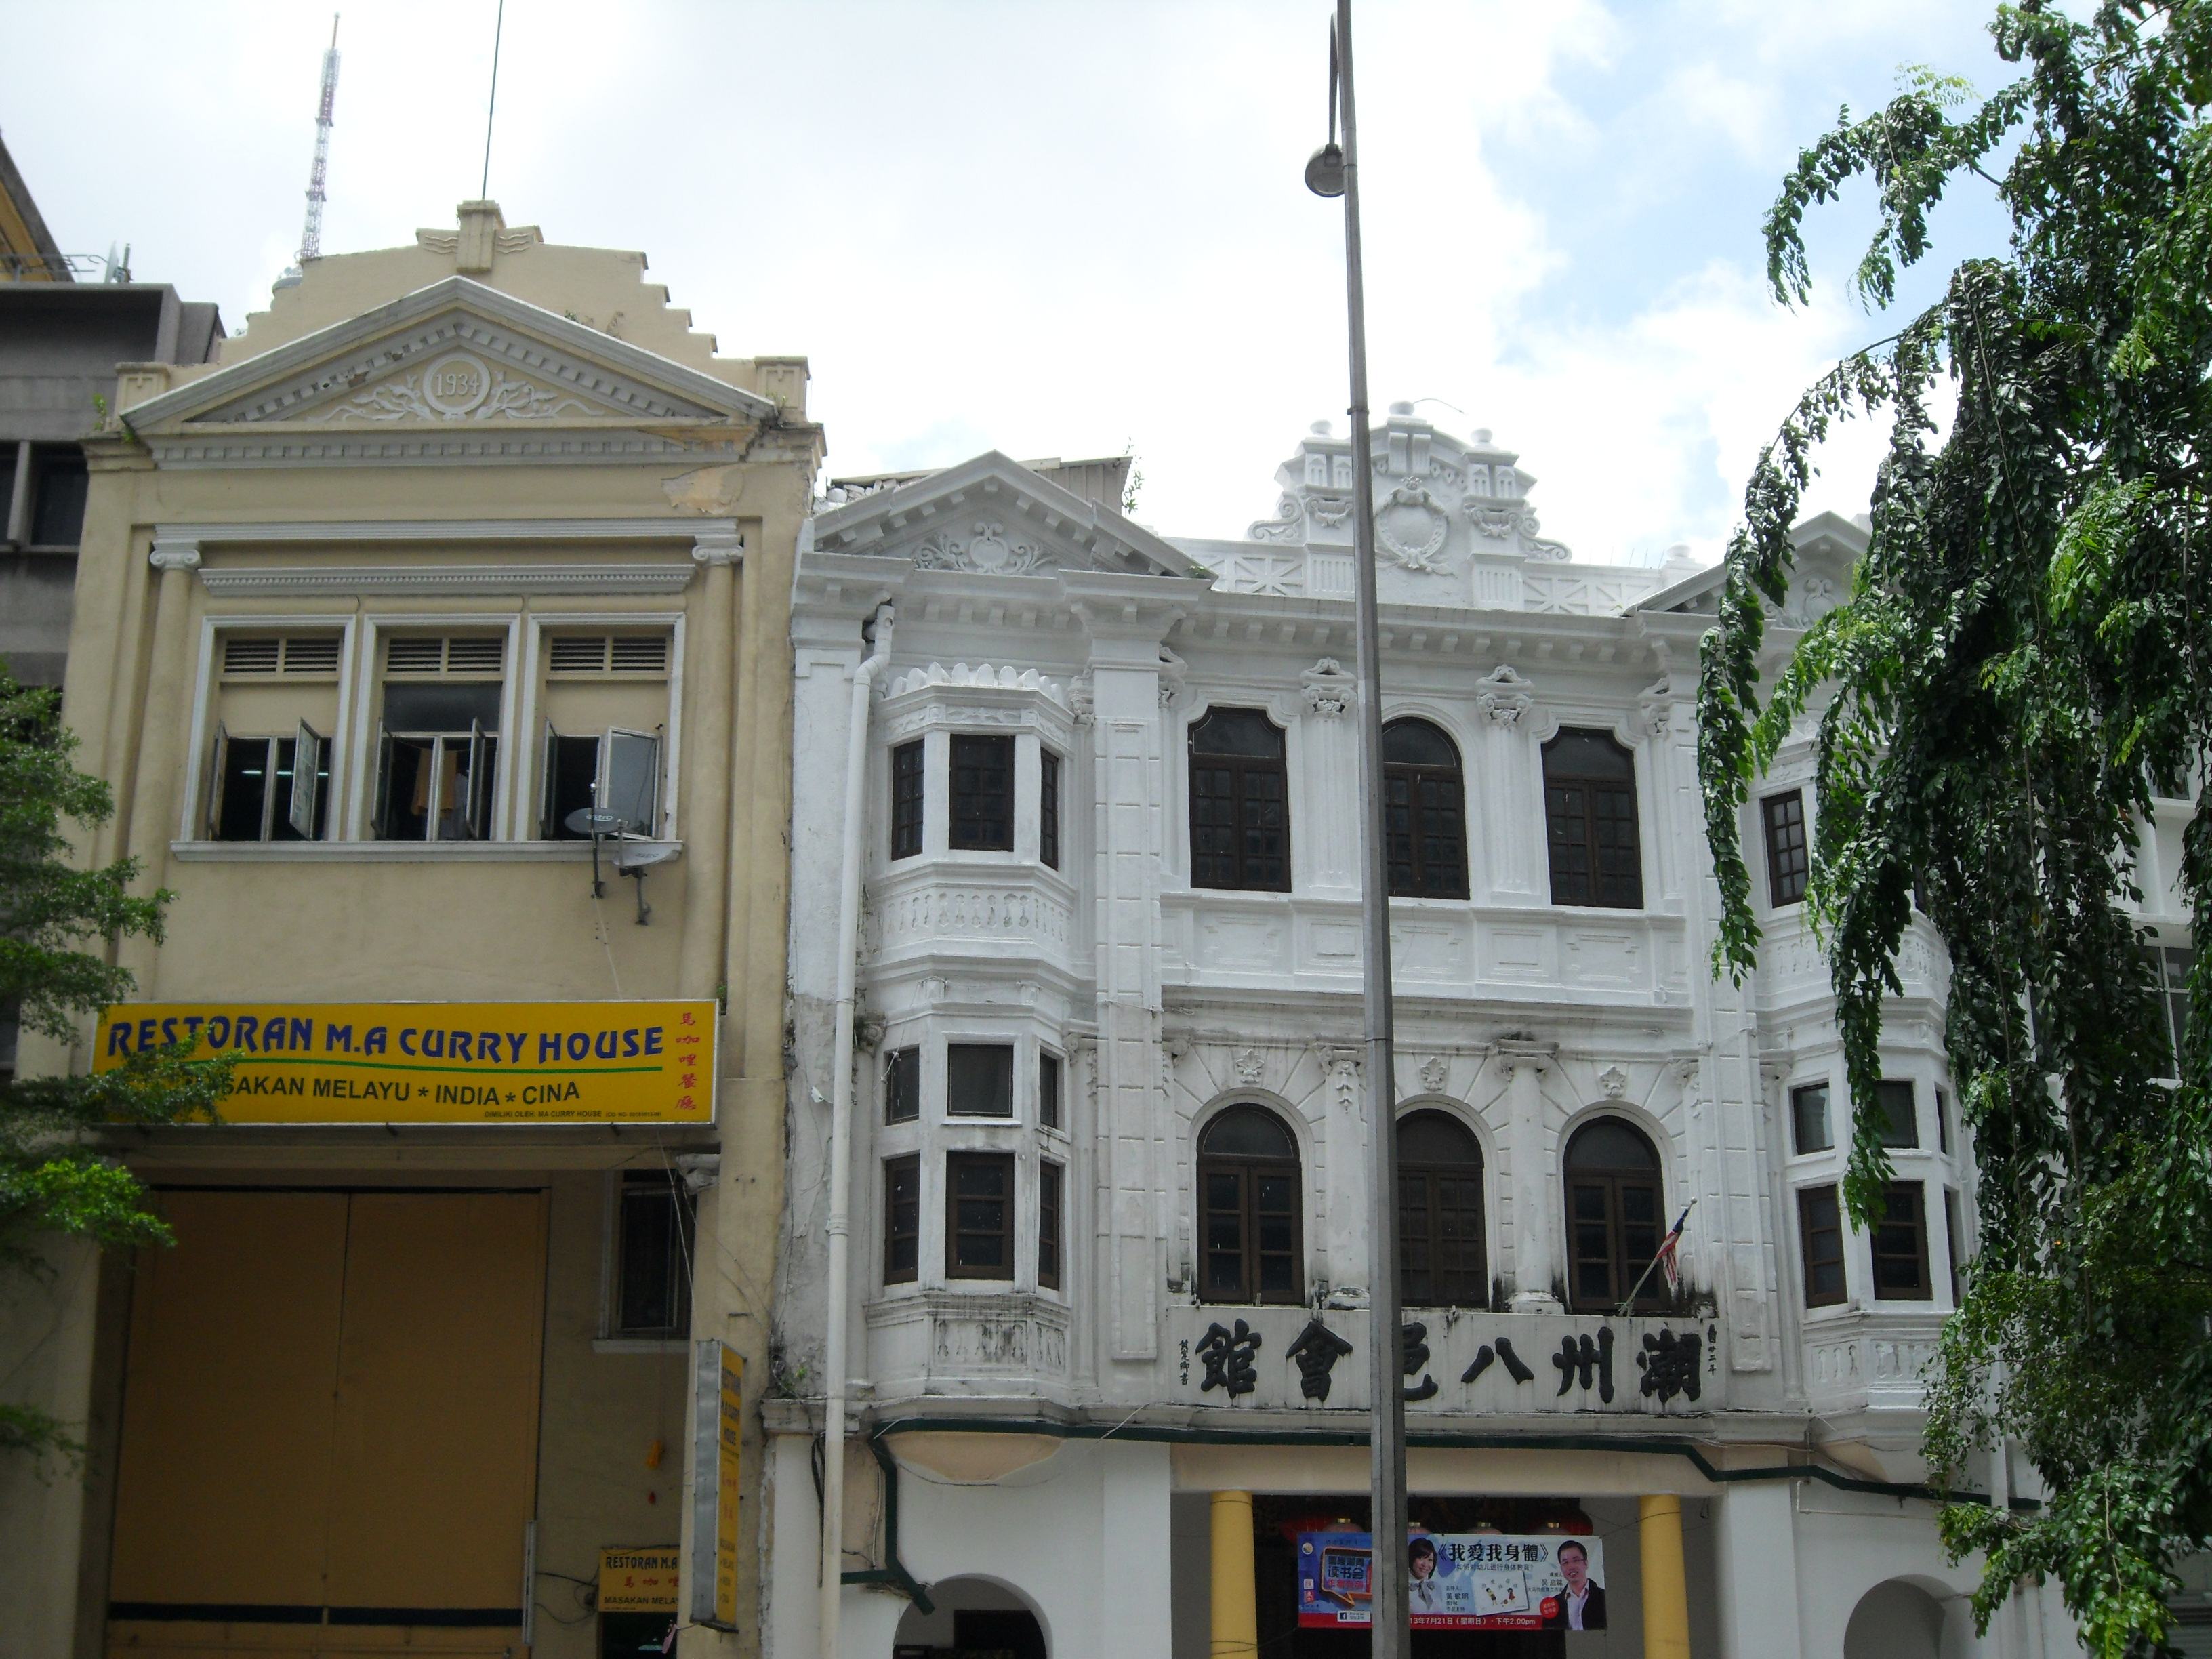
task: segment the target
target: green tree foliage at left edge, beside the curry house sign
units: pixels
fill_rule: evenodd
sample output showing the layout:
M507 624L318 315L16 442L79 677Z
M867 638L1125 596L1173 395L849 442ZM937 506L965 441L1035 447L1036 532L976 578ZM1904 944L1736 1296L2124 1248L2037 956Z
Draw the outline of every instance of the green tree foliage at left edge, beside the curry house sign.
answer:
M69 825L95 830L115 814L108 785L71 763L75 737L49 690L0 668L0 1002L22 1031L73 1042L82 1015L133 991L106 960L128 933L159 940L170 894L131 896L137 867L71 860ZM100 1077L0 1082L0 1270L51 1274L55 1237L102 1248L170 1243L131 1170L97 1150L113 1124L212 1119L230 1064L192 1064L175 1051L133 1055ZM0 1451L82 1455L66 1425L31 1405L0 1402Z

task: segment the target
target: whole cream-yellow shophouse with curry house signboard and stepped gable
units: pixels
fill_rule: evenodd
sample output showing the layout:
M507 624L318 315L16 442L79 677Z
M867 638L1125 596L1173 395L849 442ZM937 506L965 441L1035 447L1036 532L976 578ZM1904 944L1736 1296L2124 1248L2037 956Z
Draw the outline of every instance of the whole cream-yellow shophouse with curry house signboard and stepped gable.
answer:
M91 1447L0 1473L11 1659L759 1650L823 434L644 263L471 201L122 365L64 717L175 902L24 1066L239 1068L117 1144L177 1248L0 1307Z

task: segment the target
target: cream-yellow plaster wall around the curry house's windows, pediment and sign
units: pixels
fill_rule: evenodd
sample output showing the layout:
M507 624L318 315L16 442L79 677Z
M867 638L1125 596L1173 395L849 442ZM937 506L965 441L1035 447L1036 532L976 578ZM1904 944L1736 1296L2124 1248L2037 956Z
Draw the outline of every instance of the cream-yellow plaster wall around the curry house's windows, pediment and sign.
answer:
M436 243L436 237L431 239ZM768 1301L774 1272L776 1217L783 1203L783 940L785 823L790 812L790 586L799 524L823 434L805 420L805 365L796 358L717 358L708 336L690 332L684 312L668 310L664 290L641 281L641 257L553 248L509 232L489 270L473 272L502 292L661 352L692 372L712 374L781 407L774 425L703 422L686 436L692 453L591 465L310 465L166 467L157 449L170 422L88 440L93 484L80 555L75 624L66 681L66 719L82 739L80 765L104 776L117 801L115 821L91 838L88 858L124 854L144 863L142 889L177 898L161 947L135 942L119 960L137 973L146 1000L546 1000L608 995L710 998L728 993L721 1031L719 1130L686 1130L681 1150L721 1150L721 1186L701 1194L695 1332L719 1336L748 1360L757 1407L768 1383ZM279 292L270 314L226 345L221 367L252 363L261 352L330 323L367 312L458 270L451 246L332 257L307 268L299 288ZM250 374L250 369L248 369ZM192 374L126 374L117 405L144 400ZM394 427L380 429L385 434ZM480 431L480 429L478 429ZM502 436L509 429L500 429ZM449 429L440 429L449 436ZM281 436L281 434L279 434ZM316 427L327 438L330 427ZM661 434L666 436L666 434ZM690 557L701 518L734 518L743 564L699 564ZM429 564L681 564L695 566L677 593L619 595L347 595L223 597L210 602L201 573L161 573L148 564L157 524L237 522L387 522L387 520L655 520L666 538L511 542L456 546L361 544L323 540L305 546L204 549L201 571L254 564L347 562ZM312 540L312 538L310 538ZM608 880L593 905L588 863L573 858L451 858L440 849L411 860L378 852L283 860L268 856L177 856L177 834L192 741L192 686L201 672L201 619L250 615L281 624L299 615L416 613L670 613L684 615L684 697L679 754L679 836L684 856L657 867L646 883L650 927L635 925L635 889ZM509 659L509 675L522 664ZM526 803L513 803L520 812ZM27 1044L27 1066L84 1068L88 1051L58 1053ZM305 1161L332 1183L363 1170L400 1179L484 1168L535 1170L553 1197L553 1272L546 1281L542 1522L562 1535L557 1571L588 1577L599 1544L675 1542L686 1433L681 1365L661 1358L593 1354L577 1321L597 1329L602 1250L599 1166L641 1155L637 1141L584 1146L584 1130L487 1128L480 1135L418 1133L392 1137L361 1130L173 1130L124 1148L155 1172L179 1166L223 1168L239 1179ZM573 1170L580 1157L593 1172ZM562 1265L566 1263L566 1265ZM586 1270L588 1267L588 1270ZM113 1387L95 1385L100 1276L75 1272L51 1292L0 1307L0 1374L31 1380L31 1398L77 1422L113 1411ZM124 1276L128 1283L128 1276ZM566 1332L566 1336L564 1336ZM575 1340L582 1340L582 1352ZM564 1347L566 1343L566 1347ZM20 1369L18 1369L20 1367ZM619 1380L617 1380L619 1378ZM668 1425L659 1433L659 1425ZM644 1425L655 1433L644 1436ZM644 1436L644 1442L641 1442ZM646 1444L661 1438L664 1464L653 1471L659 1502L630 1513ZM617 1451L619 1449L619 1451ZM456 1453L465 1455L465 1453ZM748 1409L748 1471L765 1458L757 1409ZM701 1646L754 1652L759 1630L759 1537L748 1486L739 1624L743 1635ZM62 1608L49 1626L0 1635L0 1659L93 1655L97 1617L69 1613L80 1599L106 1599L106 1537L93 1489L69 1480L40 1484L24 1469L0 1467L0 1513L40 1548L0 1555L0 1606ZM555 1522L555 1517L560 1517ZM562 1531L566 1528L566 1531ZM60 1540L60 1542L55 1542ZM546 1579L546 1586L557 1582ZM542 1597L544 1599L544 1597ZM573 1610L573 1604L564 1606ZM0 1621L7 1624L7 1621ZM540 1624L540 1644L582 1657L582 1637ZM562 1648L562 1644L568 1644Z

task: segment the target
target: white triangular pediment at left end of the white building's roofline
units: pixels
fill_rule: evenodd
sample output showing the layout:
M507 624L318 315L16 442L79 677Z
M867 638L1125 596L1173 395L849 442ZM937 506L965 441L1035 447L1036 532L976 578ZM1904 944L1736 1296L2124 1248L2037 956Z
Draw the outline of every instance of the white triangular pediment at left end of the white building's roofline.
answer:
M995 449L816 513L814 546L967 575L1201 575L1152 531Z

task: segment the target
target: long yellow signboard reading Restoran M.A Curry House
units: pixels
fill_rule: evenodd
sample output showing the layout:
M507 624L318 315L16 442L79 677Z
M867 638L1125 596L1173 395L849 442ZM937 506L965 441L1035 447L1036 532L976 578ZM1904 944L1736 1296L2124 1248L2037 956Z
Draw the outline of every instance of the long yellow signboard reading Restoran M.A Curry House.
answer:
M712 1124L712 1002L126 1002L93 1071L237 1057L237 1124Z

